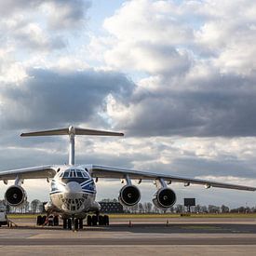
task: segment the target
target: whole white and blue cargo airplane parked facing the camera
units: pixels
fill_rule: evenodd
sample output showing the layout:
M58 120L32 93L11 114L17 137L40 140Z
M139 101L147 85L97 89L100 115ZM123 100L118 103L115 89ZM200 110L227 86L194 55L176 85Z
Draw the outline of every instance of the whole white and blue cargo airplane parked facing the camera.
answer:
M159 209L168 209L176 202L175 192L168 187L171 182L182 182L184 186L201 184L206 188L219 187L236 190L255 191L256 187L184 178L179 176L161 174L158 172L140 171L128 168L113 168L100 165L74 164L74 139L76 135L89 136L124 136L124 133L88 129L69 128L47 129L34 132L21 133L21 137L33 136L69 136L69 163L68 165L51 165L33 168L19 168L0 171L0 181L6 185L9 180L14 184L7 188L5 200L11 207L20 207L27 200L27 194L22 183L30 179L47 179L50 182L49 201L45 205L47 216L37 216L37 224L47 222L50 214L61 217L63 229L82 229L84 220L88 225L108 225L108 215L101 215L101 206L96 202L96 185L99 179L120 179L125 182L119 191L119 202L126 207L133 207L139 203L141 192L132 183L137 180L151 180L155 183L156 192L153 203ZM90 214L93 214L92 216ZM59 220L59 219L58 219ZM59 222L59 221L58 221Z

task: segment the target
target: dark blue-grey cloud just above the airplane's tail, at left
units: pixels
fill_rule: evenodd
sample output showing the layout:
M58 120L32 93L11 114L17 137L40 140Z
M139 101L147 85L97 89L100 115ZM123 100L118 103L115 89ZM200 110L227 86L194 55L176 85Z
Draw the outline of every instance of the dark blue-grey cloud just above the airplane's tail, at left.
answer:
M1 88L2 127L59 127L99 120L108 95L121 101L133 87L126 76L115 72L33 69L19 86Z

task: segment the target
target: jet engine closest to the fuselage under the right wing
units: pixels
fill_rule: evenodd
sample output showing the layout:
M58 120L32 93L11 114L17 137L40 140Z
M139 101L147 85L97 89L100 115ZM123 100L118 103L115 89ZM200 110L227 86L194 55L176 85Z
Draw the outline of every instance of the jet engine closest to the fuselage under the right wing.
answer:
M141 199L140 190L134 185L125 185L121 188L119 192L118 200L126 207L133 207L139 203Z

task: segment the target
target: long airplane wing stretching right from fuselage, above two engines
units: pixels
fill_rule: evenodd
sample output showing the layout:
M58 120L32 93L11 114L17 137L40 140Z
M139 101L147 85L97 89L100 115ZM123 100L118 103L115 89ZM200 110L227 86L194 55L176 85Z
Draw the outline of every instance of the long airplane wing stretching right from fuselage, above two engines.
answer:
M206 181L206 180L199 180L194 178L184 178L179 176L161 174L161 173L154 173L148 171L139 171L134 169L128 168L111 168L111 167L103 167L92 165L91 167L91 175L95 178L110 178L110 179L125 179L126 175L130 179L136 180L157 180L163 179L166 182L183 182L184 185L193 184L200 184L205 185L207 188L209 187L220 187L220 188L229 188L229 189L237 189L237 190L247 190L247 191L255 191L256 187L249 187L237 184L230 184L230 183L222 183L222 182L214 182L214 181Z

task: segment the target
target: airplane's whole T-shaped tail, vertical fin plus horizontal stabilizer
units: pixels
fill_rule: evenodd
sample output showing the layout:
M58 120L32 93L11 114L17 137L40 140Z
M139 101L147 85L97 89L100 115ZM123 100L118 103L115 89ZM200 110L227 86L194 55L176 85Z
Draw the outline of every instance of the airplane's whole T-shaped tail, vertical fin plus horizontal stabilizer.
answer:
M25 132L21 133L21 137L33 137L33 136L55 136L55 135L69 135L70 147L69 147L69 165L74 165L74 137L75 135L93 135L93 136L124 136L124 133L113 132L98 129L89 128L58 128L58 129L47 129L41 131Z

